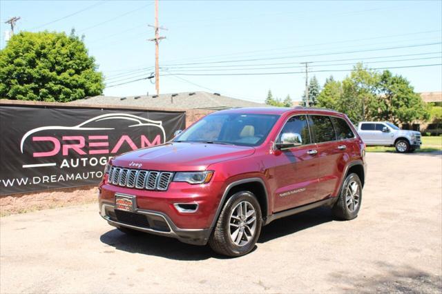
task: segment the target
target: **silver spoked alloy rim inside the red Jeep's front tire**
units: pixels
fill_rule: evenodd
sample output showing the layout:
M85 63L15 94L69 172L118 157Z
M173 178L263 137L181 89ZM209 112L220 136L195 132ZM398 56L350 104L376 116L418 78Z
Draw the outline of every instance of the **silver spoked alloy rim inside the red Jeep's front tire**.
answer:
M256 232L256 211L250 202L242 201L233 208L229 218L229 235L238 246L249 244Z

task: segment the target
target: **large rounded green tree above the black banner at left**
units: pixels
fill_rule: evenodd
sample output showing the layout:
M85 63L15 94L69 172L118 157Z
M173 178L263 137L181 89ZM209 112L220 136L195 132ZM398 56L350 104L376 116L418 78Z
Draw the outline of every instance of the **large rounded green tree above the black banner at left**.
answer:
M0 51L1 98L68 102L103 89L103 75L75 32L20 32Z

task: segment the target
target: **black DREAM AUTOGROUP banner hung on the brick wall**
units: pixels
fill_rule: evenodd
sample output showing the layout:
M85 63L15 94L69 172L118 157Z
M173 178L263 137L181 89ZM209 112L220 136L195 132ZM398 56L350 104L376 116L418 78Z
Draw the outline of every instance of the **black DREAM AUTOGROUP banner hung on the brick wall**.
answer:
M97 184L109 157L163 144L185 112L0 105L0 195Z

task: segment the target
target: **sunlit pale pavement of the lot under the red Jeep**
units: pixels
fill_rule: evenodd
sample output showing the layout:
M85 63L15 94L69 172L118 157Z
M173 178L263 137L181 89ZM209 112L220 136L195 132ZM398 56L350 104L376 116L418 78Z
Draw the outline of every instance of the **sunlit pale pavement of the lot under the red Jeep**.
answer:
M266 226L255 251L119 233L97 204L0 219L1 293L442 291L442 157L367 154L359 216L318 208Z

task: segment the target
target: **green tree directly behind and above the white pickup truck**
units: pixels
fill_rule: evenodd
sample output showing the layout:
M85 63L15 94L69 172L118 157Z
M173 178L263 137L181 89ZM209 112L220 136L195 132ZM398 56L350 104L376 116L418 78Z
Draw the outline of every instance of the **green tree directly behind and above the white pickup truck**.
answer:
M430 119L429 106L421 95L401 75L384 70L378 84L379 94L372 103L372 117L394 124L412 124L418 119Z

